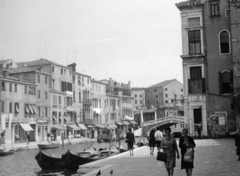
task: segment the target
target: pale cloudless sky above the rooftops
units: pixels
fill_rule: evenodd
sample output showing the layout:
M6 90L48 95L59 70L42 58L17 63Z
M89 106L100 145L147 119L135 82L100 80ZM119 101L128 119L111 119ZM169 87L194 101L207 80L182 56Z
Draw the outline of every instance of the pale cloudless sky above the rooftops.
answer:
M182 76L181 0L0 0L0 59L46 58L96 80Z

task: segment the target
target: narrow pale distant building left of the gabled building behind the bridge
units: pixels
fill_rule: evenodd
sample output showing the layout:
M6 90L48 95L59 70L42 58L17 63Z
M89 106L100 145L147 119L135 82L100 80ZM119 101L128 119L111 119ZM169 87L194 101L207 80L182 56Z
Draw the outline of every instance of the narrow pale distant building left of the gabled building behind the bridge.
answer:
M134 111L145 107L145 90L144 88L134 87L131 90L131 94L134 97Z

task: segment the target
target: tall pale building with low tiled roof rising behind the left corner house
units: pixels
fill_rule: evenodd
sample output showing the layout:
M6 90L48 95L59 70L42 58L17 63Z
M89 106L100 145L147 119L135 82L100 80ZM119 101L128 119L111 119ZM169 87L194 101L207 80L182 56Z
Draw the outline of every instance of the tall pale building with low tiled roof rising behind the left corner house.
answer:
M41 69L50 75L50 116L51 130L57 139L67 137L68 125L77 122L77 113L73 106L72 69L47 59L19 62L18 66Z

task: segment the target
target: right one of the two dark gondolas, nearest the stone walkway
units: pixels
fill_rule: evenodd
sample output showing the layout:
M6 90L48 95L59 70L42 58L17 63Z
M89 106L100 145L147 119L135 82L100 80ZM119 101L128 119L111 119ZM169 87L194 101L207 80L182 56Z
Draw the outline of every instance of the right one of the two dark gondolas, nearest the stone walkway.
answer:
M72 152L70 152L70 150L68 150L67 153L62 155L62 160L65 162L66 168L68 170L77 170L80 165L87 164L98 159L100 159L99 156L95 158L89 156L79 156L78 154L73 154Z

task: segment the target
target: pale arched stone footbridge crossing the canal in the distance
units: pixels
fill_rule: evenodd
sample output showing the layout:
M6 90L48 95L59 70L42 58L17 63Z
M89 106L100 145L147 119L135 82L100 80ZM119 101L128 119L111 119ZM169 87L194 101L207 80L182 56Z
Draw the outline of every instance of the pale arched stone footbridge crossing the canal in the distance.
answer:
M164 130L167 127L170 127L175 124L181 124L184 123L184 117L183 116L168 116L156 120L150 120L143 122L142 124L142 135L146 135L149 130L152 128L160 127L160 130Z

